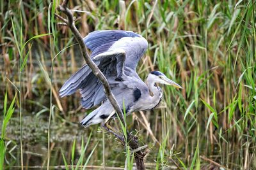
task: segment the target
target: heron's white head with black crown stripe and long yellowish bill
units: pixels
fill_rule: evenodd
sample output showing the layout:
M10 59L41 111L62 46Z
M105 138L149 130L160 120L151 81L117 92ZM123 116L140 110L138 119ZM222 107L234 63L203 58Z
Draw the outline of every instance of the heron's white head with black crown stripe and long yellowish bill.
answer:
M154 83L161 83L164 85L172 85L174 87L182 89L182 87L178 83L170 80L164 73L161 73L160 71L152 71L150 74L148 74L148 81L152 81Z

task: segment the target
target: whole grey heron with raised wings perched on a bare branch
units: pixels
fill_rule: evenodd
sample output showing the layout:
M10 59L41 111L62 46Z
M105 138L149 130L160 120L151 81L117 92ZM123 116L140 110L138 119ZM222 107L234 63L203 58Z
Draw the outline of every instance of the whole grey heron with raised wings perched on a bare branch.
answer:
M152 110L163 98L163 91L157 83L182 88L160 71L152 71L144 81L136 73L138 61L148 48L148 42L132 31L94 31L84 38L91 50L91 58L106 76L118 104L127 115L134 111ZM99 106L87 115L81 125L88 127L99 124L108 117L115 117L115 110L104 94L97 77L86 64L74 73L60 89L60 96L67 96L80 90L81 105L89 109ZM123 108L124 109L124 108Z

